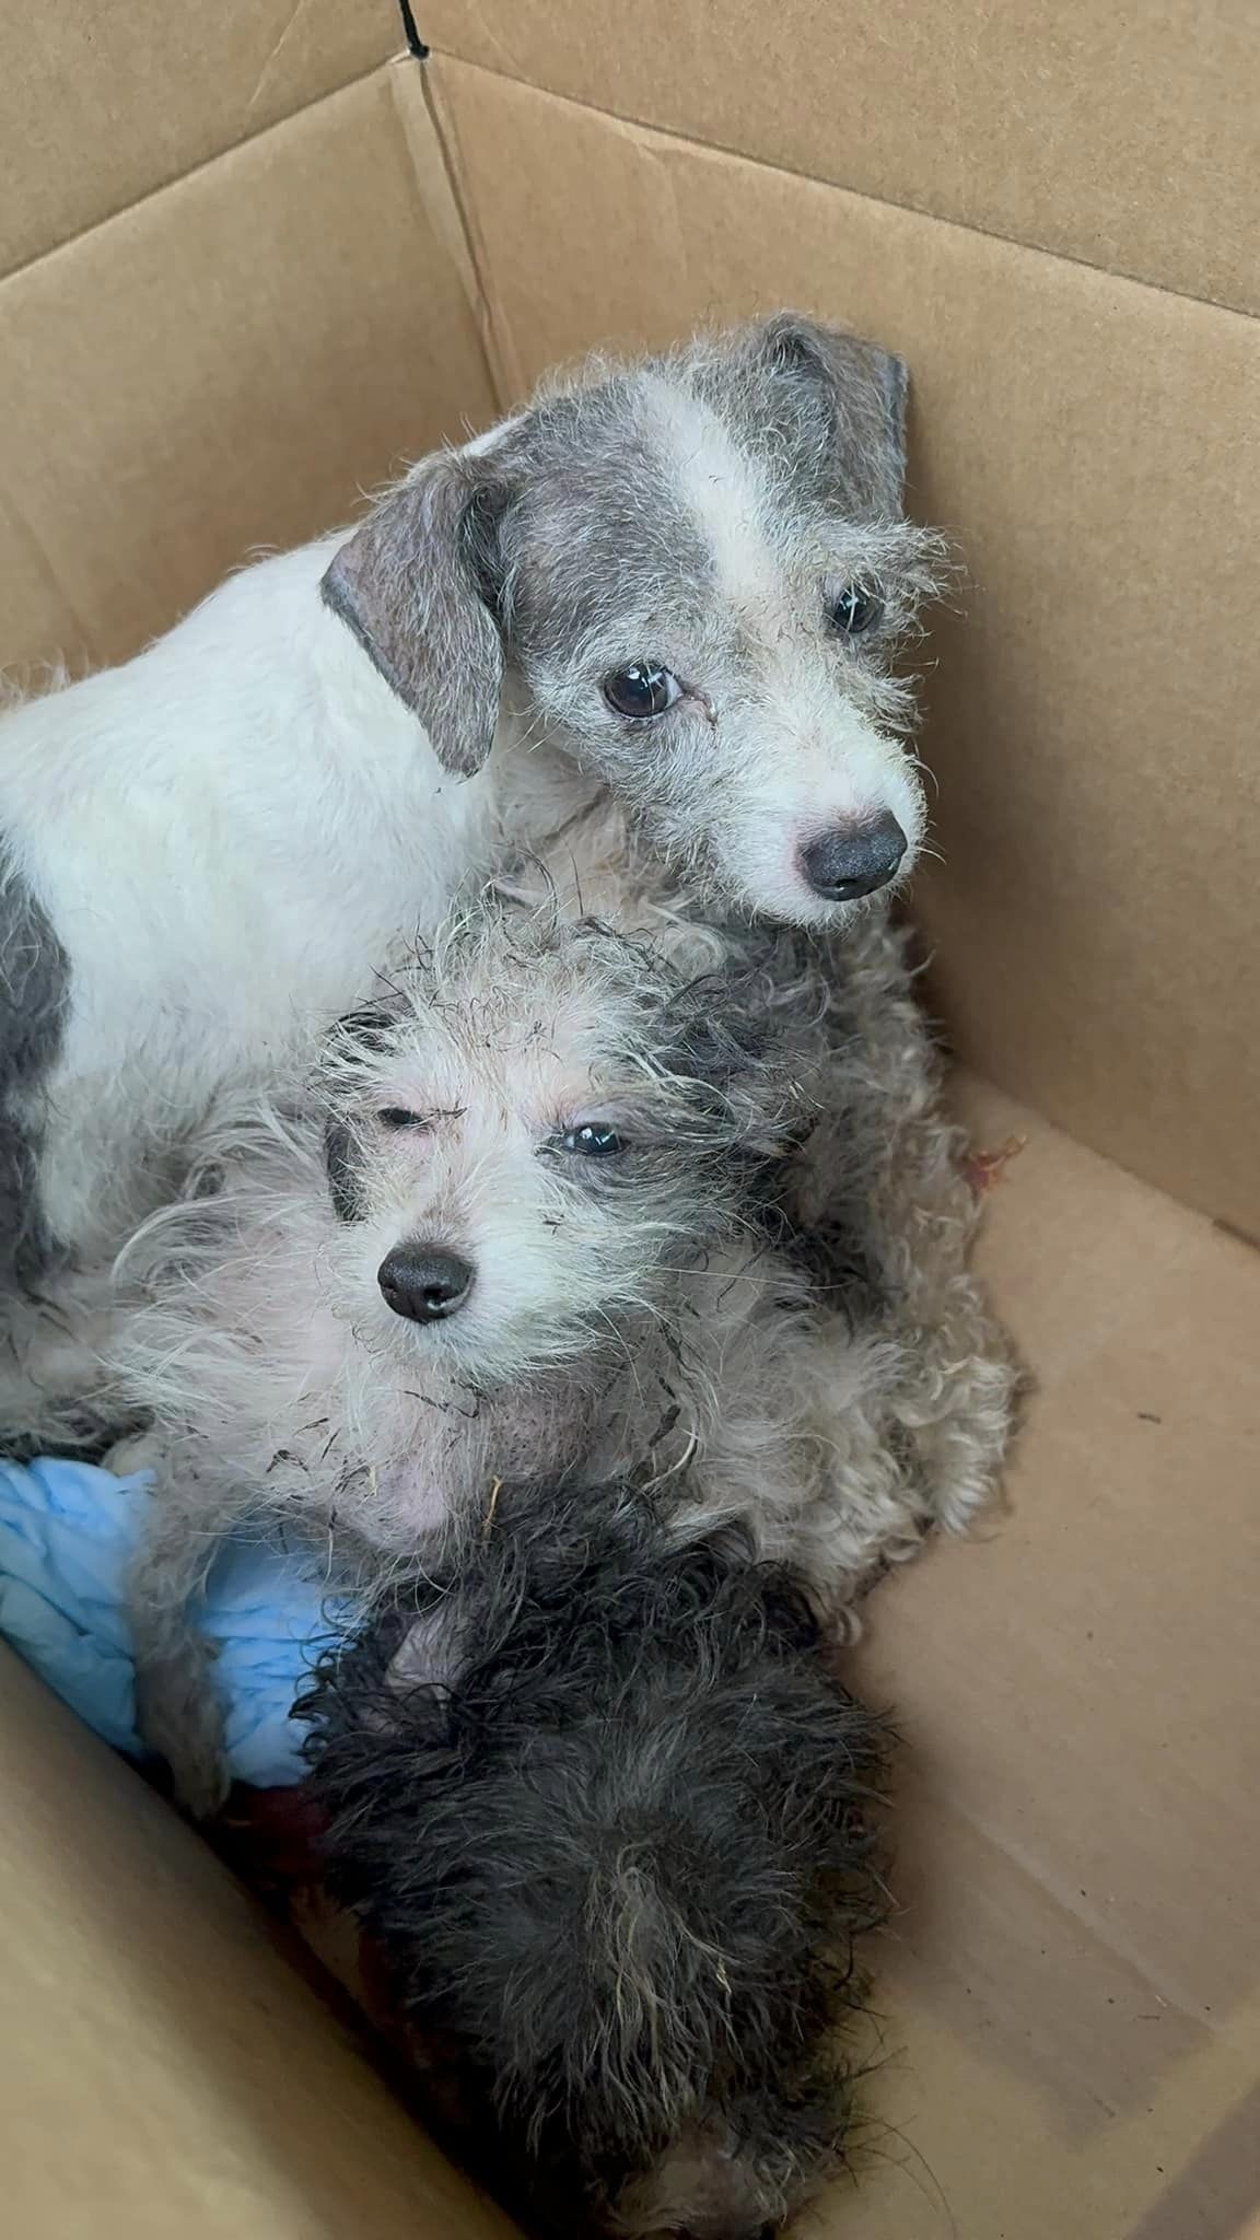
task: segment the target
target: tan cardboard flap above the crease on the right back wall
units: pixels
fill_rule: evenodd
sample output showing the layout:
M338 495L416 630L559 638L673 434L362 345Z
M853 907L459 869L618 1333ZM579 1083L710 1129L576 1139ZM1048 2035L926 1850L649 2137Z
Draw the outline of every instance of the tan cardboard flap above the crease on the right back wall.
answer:
M1186 296L1260 307L1253 0L428 0L444 54Z

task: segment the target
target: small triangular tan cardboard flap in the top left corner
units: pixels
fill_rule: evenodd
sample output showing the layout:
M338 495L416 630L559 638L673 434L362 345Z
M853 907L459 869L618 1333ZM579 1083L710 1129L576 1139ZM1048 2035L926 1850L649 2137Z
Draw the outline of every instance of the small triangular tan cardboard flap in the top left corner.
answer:
M395 0L0 0L0 273L399 47Z

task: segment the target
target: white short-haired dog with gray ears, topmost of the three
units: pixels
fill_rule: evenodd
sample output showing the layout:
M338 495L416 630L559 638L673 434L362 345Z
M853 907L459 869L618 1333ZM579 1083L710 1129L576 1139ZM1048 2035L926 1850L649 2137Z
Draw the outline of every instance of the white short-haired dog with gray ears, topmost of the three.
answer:
M504 822L612 793L724 907L832 930L924 836L890 652L904 367L782 314L596 363L0 721L0 1431L90 1382L101 1261L213 1098L428 939ZM38 1301L45 1313L38 1313Z

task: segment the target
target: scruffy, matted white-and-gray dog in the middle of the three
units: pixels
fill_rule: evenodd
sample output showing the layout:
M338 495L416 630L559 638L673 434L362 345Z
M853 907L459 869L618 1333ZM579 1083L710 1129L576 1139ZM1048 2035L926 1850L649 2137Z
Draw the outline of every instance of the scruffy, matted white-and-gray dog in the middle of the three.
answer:
M305 1102L209 1136L128 1254L148 1306L117 1369L152 1431L114 1460L157 1469L137 1655L200 1810L191 1606L244 1512L316 1523L372 1581L495 1483L677 1481L679 1537L742 1521L836 1613L991 1487L1009 1371L899 936L870 916L830 977L691 921L619 818L563 851L585 894L522 876L455 916ZM596 898L617 927L574 914Z

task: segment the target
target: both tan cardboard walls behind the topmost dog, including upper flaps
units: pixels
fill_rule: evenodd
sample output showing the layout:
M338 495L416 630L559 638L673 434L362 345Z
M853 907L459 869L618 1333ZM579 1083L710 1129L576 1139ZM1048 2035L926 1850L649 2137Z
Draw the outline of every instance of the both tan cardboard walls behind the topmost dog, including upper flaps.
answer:
M119 659L596 343L899 347L960 1053L1249 1234L1260 58L1244 0L0 4L0 665ZM807 177L807 175L814 177ZM451 195L451 177L460 208ZM471 246L471 258L469 258Z

